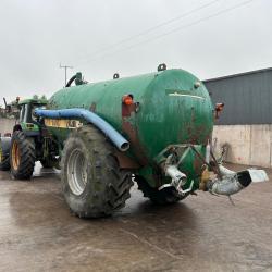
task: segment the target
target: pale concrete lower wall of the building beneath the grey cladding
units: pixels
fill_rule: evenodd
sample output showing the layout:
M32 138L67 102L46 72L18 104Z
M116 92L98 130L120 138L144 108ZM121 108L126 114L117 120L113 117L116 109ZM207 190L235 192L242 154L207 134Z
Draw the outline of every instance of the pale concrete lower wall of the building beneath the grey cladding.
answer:
M225 161L272 168L272 125L215 125L215 151L227 146Z

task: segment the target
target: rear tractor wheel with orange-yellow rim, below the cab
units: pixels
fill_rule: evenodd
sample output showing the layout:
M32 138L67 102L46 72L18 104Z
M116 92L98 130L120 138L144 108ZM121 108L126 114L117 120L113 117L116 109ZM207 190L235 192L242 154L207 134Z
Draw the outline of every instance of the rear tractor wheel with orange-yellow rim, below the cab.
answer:
M32 177L36 161L34 139L16 131L11 138L10 164L11 174L18 180Z

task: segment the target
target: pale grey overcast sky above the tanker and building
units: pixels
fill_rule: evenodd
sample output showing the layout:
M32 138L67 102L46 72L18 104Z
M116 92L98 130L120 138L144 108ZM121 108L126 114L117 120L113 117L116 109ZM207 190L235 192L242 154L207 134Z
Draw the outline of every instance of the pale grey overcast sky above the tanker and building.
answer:
M89 82L162 62L201 79L270 67L271 29L271 0L0 0L0 99L50 97L60 62Z

